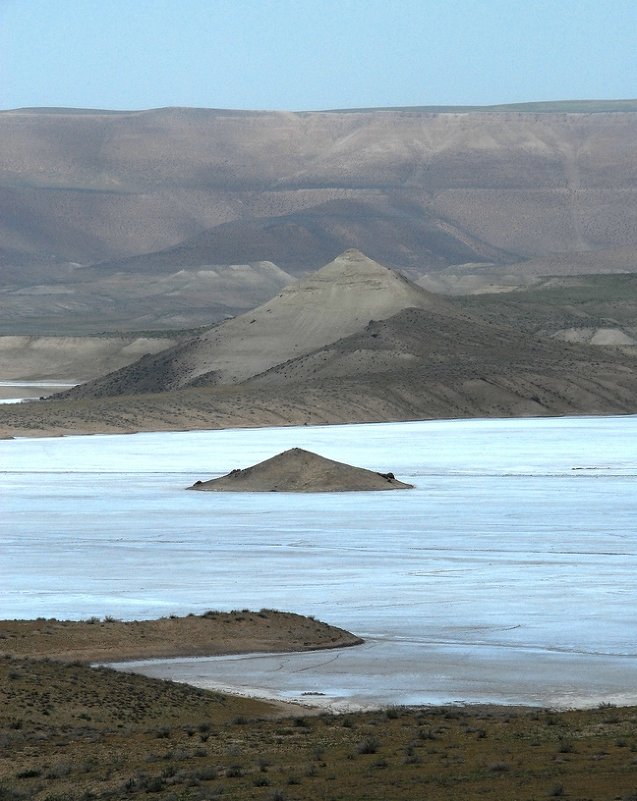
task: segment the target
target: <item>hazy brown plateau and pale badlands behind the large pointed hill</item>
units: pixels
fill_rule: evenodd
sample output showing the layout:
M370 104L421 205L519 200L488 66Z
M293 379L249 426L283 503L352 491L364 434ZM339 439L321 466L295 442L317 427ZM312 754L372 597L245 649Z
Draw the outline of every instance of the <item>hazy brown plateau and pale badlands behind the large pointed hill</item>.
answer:
M632 272L636 127L635 101L4 111L0 334L207 325L351 247L451 291Z

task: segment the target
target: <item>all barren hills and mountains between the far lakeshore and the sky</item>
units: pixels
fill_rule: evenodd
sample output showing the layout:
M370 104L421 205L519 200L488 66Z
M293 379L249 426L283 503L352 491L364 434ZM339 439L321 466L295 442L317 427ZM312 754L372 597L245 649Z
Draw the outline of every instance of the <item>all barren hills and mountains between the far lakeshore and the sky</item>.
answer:
M2 112L0 380L107 377L0 432L634 412L636 126Z

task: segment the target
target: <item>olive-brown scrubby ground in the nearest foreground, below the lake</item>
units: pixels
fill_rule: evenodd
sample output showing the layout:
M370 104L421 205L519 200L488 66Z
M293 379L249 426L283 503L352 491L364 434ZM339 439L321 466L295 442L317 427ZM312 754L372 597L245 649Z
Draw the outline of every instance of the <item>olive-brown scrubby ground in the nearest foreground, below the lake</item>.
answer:
M235 613L244 618L236 624L250 616ZM34 640L55 638L51 622L36 623ZM637 799L637 708L299 708L281 717L256 700L10 655L9 642L25 651L30 638L10 636L5 623L0 632L0 801Z

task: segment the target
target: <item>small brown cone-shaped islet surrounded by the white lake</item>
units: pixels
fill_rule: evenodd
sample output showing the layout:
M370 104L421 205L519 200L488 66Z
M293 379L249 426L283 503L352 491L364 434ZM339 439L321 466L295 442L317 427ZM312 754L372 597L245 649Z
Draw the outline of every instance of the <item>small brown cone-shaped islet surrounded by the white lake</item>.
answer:
M232 470L189 489L208 492L364 492L411 489L392 473L326 459L302 448L291 448L244 470Z

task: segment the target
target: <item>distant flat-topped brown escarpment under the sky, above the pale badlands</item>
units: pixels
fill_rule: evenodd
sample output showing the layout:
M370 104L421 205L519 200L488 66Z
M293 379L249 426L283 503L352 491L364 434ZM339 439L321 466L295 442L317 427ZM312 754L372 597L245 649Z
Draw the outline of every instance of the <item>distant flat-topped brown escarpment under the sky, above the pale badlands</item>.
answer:
M190 241L199 263L298 271L352 246L408 267L634 244L627 108L6 111L4 261L92 263ZM417 233L405 243L407 228Z

